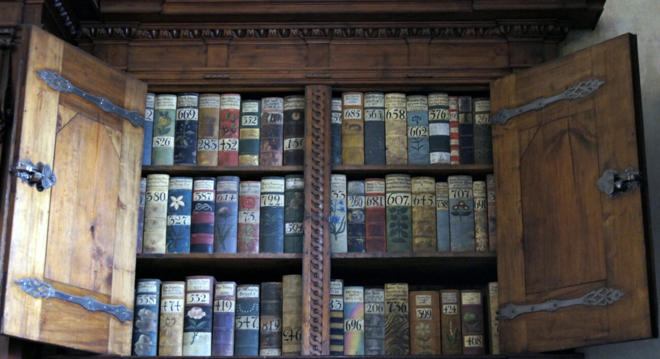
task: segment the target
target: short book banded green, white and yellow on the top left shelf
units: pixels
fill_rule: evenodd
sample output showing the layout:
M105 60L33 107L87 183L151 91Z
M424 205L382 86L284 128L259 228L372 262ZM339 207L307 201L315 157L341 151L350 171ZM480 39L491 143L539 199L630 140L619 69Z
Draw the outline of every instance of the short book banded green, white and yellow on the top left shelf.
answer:
M241 124L238 137L238 166L259 166L259 129L261 101L241 102Z

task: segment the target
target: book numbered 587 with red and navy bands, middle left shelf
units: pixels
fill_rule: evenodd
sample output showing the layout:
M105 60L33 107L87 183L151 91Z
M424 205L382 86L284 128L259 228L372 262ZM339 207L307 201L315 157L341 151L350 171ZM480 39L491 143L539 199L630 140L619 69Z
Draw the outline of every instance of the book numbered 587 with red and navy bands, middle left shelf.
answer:
M193 181L193 212L190 218L190 253L213 253L215 224L215 179Z

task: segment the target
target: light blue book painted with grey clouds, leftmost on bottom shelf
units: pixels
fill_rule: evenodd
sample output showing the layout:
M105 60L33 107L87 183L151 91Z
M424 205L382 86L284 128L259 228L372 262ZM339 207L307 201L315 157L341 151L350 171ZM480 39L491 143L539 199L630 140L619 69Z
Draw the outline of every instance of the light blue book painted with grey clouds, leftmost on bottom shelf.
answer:
M158 308L160 308L160 280L138 279L135 283L133 313L133 345L131 354L154 356L158 348Z

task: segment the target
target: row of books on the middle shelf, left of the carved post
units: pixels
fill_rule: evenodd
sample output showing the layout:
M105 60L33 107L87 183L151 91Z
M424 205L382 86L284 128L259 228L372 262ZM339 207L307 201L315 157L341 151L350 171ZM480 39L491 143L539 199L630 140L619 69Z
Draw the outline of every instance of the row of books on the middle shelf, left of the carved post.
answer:
M302 253L302 175L141 180L138 253Z

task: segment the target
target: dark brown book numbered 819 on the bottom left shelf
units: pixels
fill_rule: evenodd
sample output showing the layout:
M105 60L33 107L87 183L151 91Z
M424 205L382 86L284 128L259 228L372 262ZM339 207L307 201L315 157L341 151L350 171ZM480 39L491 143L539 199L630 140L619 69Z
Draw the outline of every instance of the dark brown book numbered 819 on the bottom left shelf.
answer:
M282 355L282 282L261 283L259 355Z

